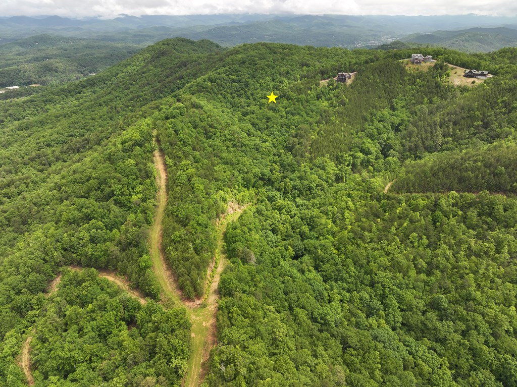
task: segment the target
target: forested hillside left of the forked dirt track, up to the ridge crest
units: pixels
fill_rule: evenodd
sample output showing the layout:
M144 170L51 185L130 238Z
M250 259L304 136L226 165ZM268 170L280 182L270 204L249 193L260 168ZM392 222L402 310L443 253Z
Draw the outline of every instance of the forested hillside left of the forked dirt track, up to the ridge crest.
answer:
M184 311L141 305L95 271L64 267L116 270L158 297L146 245L156 191L153 134L142 117L153 111L147 104L202 71L202 61L196 69L187 58L218 52L210 42L164 42L96 77L1 103L0 384L22 385L14 358L33 326L35 385L49 378L181 383L190 348ZM59 291L42 297L58 272ZM132 327L142 334L130 334ZM168 344L146 344L157 336Z

